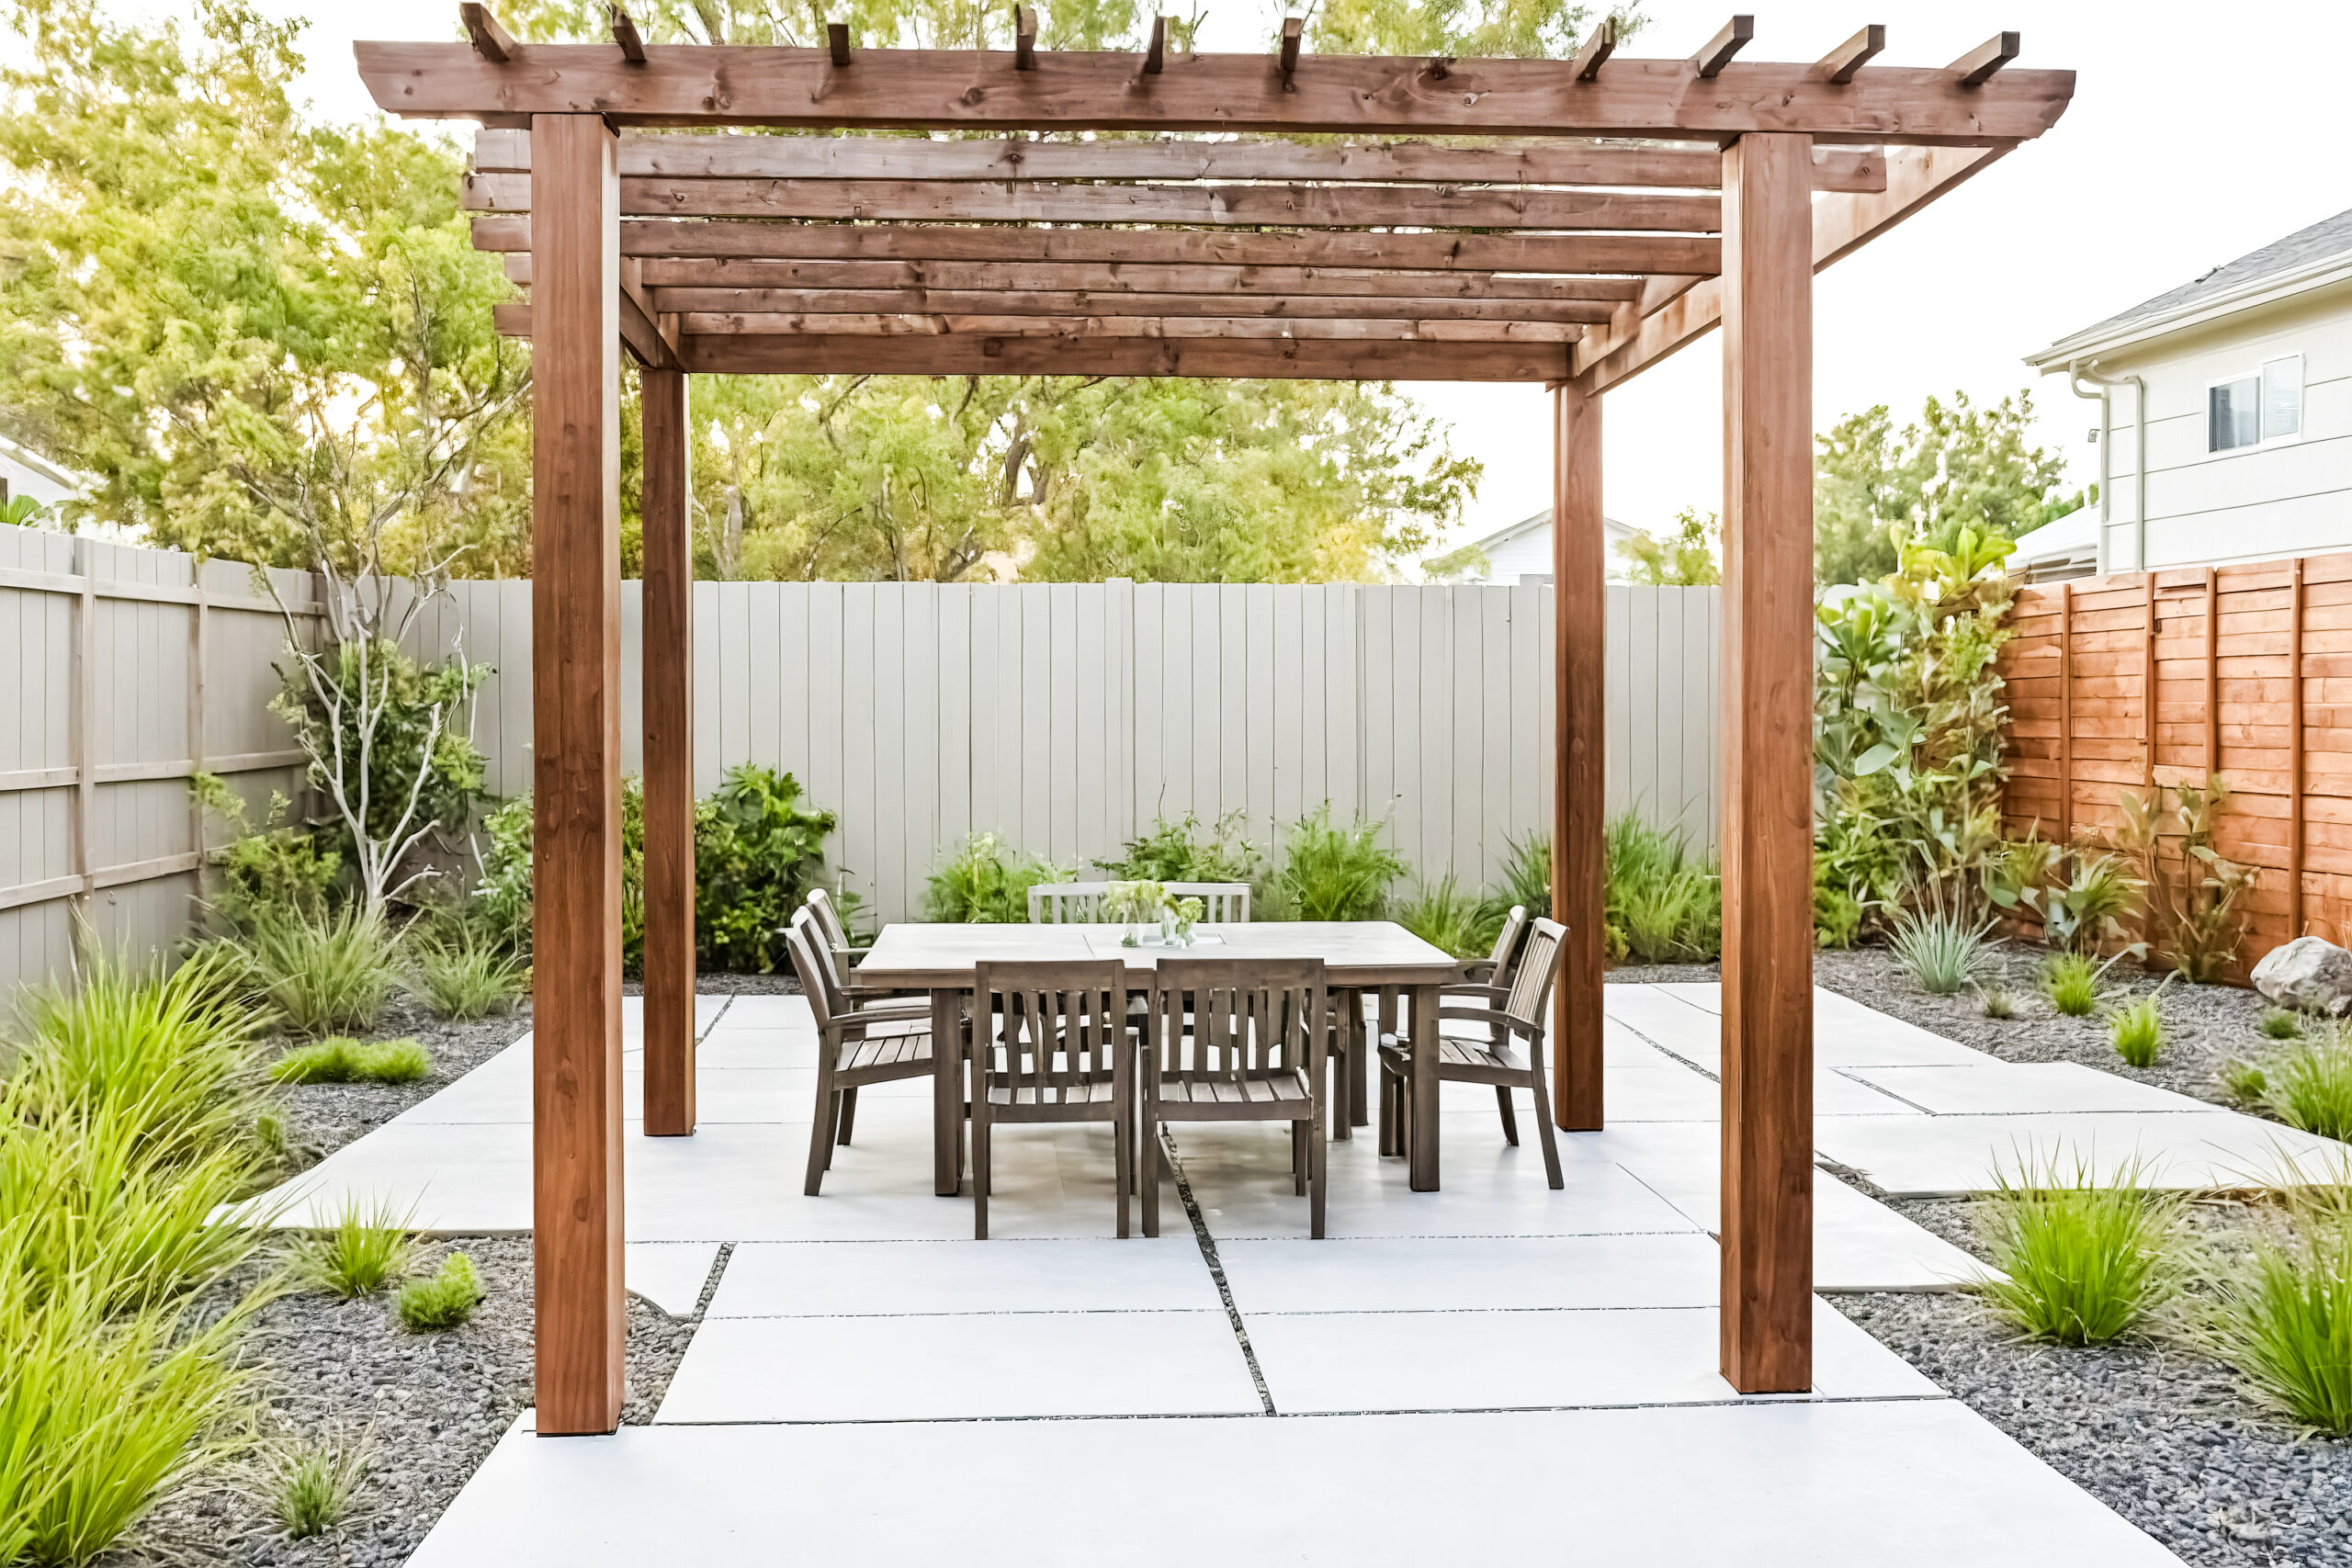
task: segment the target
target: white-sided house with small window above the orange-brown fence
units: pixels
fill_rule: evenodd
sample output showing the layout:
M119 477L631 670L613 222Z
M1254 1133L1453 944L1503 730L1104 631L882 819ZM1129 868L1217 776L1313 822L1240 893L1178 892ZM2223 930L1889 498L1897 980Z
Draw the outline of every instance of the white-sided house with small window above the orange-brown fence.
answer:
M2100 498L2025 534L2023 576L2352 548L2352 212L2025 362L2100 402Z

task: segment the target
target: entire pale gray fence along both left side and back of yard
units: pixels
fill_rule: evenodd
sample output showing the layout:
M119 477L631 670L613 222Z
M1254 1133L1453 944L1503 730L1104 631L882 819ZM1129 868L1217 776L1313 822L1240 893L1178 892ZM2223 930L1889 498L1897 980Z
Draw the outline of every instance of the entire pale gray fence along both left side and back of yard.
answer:
M310 602L303 574L280 592ZM637 766L637 585L621 733ZM1712 588L1609 588L1609 802L1712 842ZM299 621L308 625L308 621ZM1548 585L696 583L696 788L790 769L882 919L971 832L1087 865L1160 816L1270 844L1319 802L1388 823L1421 877L1491 882L1552 802ZM268 712L285 621L247 567L0 529L0 992L68 971L75 917L169 947L198 893L186 778L299 785ZM532 783L532 585L456 583L412 649L496 675L473 736ZM216 835L216 825L214 825Z

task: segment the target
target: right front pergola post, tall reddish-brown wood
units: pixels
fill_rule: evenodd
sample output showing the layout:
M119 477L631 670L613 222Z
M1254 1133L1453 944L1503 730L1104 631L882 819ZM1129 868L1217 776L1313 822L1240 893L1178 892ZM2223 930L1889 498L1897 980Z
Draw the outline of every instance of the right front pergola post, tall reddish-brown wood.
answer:
M1724 150L1722 1368L1813 1382L1811 136Z

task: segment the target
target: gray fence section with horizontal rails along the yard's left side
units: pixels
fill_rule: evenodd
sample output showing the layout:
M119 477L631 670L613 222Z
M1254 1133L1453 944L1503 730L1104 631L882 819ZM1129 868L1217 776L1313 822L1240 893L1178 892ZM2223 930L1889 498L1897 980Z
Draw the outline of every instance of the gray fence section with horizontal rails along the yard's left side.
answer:
M273 576L310 618L310 576ZM78 914L132 952L188 929L188 776L299 780L268 712L282 646L252 567L0 527L0 992L68 973Z

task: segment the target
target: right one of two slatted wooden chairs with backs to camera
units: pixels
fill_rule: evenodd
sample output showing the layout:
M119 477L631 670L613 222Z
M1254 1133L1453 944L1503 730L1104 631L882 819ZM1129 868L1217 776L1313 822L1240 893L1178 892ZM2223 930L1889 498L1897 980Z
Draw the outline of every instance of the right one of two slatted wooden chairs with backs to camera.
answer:
M1160 1234L1160 1126L1287 1121L1308 1232L1324 1234L1324 1058L1331 1004L1322 959L1160 959L1136 1086L1143 1234Z

